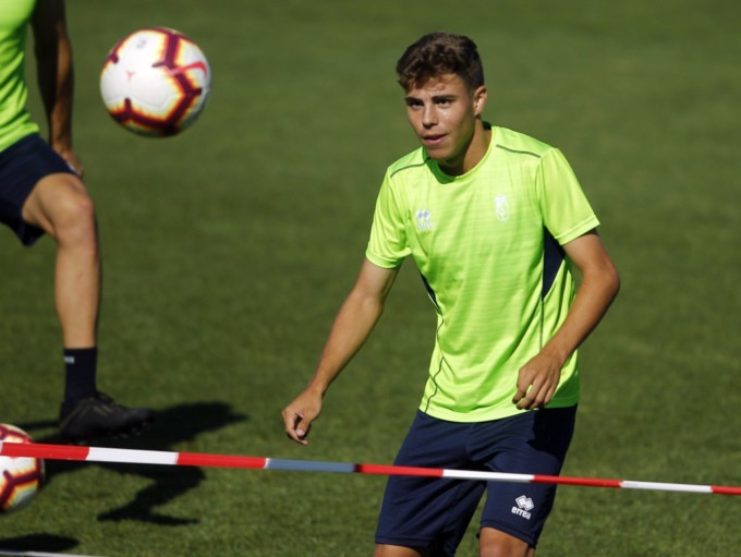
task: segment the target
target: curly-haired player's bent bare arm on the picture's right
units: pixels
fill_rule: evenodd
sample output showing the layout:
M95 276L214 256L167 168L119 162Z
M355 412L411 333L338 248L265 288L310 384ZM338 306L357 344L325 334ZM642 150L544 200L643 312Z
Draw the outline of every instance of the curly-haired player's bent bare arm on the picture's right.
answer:
M561 368L602 320L620 289L620 277L595 230L563 245L582 281L569 315L543 350L520 370L512 400L521 410L542 408L558 387Z

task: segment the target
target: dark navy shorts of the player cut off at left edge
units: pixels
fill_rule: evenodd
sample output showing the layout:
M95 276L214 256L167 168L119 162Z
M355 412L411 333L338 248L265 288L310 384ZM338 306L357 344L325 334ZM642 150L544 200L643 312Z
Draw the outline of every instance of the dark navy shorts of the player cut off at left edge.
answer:
M8 225L24 245L34 244L44 230L23 220L23 204L39 180L60 172L75 173L37 134L26 135L0 152L0 222Z

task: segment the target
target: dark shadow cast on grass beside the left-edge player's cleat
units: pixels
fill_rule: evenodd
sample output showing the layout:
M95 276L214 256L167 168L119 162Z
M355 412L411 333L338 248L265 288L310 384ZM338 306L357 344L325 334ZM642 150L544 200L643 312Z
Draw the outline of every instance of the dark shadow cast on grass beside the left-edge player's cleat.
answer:
M198 435L226 427L248 416L234 413L222 402L194 402L157 411L150 429L138 437L129 439L100 440L95 446L132 448L141 450L174 450L172 447L195 440ZM33 432L35 427L49 426L49 423L19 424L19 427ZM64 443L58 435L36 438L37 443ZM180 449L182 450L182 449ZM155 464L107 464L77 461L46 461L46 483L53 482L61 474L73 473L86 467L98 465L122 475L135 475L150 480L148 487L139 491L130 502L98 516L100 521L137 520L160 525L180 526L195 524L198 519L178 518L155 511L156 507L172 501L196 488L206 477L203 470L192 467L162 467Z

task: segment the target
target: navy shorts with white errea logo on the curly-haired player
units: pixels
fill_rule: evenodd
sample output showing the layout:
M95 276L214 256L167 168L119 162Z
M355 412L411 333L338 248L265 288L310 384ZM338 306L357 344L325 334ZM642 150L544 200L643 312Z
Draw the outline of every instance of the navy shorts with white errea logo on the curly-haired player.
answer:
M446 422L417 412L394 464L557 475L575 416L576 407L479 423ZM535 547L554 506L555 485L413 476L389 477L376 543L452 556L484 492L482 526Z

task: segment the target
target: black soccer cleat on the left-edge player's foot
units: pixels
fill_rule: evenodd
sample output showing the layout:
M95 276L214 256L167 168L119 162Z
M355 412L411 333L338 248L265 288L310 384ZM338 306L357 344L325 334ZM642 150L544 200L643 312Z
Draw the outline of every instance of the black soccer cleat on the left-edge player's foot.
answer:
M126 408L96 392L71 404L62 403L59 428L62 437L86 444L99 437L127 437L145 429L155 419L147 408Z

